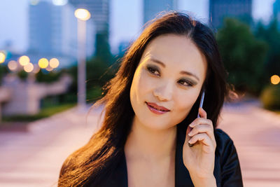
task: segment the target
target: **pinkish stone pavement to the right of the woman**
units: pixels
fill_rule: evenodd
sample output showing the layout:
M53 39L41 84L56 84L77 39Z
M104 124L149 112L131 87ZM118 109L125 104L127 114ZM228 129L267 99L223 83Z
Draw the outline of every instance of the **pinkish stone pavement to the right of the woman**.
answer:
M224 107L219 128L235 142L244 186L280 186L280 115L255 106Z

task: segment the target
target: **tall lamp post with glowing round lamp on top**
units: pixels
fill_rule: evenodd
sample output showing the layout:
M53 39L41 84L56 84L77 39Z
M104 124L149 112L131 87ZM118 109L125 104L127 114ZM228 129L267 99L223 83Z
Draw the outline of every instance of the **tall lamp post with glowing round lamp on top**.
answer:
M84 8L75 11L78 18L78 109L85 109L85 58L86 58L86 21L90 19L90 12Z

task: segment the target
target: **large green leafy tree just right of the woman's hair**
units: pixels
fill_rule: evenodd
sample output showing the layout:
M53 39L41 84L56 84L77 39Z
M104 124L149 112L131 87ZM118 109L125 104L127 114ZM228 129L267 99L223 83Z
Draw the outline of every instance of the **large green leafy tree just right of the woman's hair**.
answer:
M264 62L267 44L255 39L248 25L232 18L225 19L216 35L228 82L237 91L249 91L255 95L265 85Z

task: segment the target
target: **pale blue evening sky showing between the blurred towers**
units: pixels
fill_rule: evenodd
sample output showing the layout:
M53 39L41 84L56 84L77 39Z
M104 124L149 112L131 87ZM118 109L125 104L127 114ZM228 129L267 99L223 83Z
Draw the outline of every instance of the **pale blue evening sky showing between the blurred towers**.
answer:
M10 41L13 50L24 53L28 48L28 5L30 0L1 0L0 50ZM110 43L118 52L120 41L132 41L143 25L143 0L111 0ZM253 18L268 22L275 0L253 0ZM15 4L16 2L16 4ZM209 0L178 0L179 10L189 11L195 18L207 22Z

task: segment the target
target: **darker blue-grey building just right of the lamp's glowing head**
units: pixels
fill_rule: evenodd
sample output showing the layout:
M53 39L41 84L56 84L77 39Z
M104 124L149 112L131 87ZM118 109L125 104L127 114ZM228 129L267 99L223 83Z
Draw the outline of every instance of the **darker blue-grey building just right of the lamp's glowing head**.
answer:
M69 3L75 8L85 8L90 11L96 26L96 33L92 33L95 37L95 55L102 56L104 53L111 53L109 46L110 0L69 0Z

